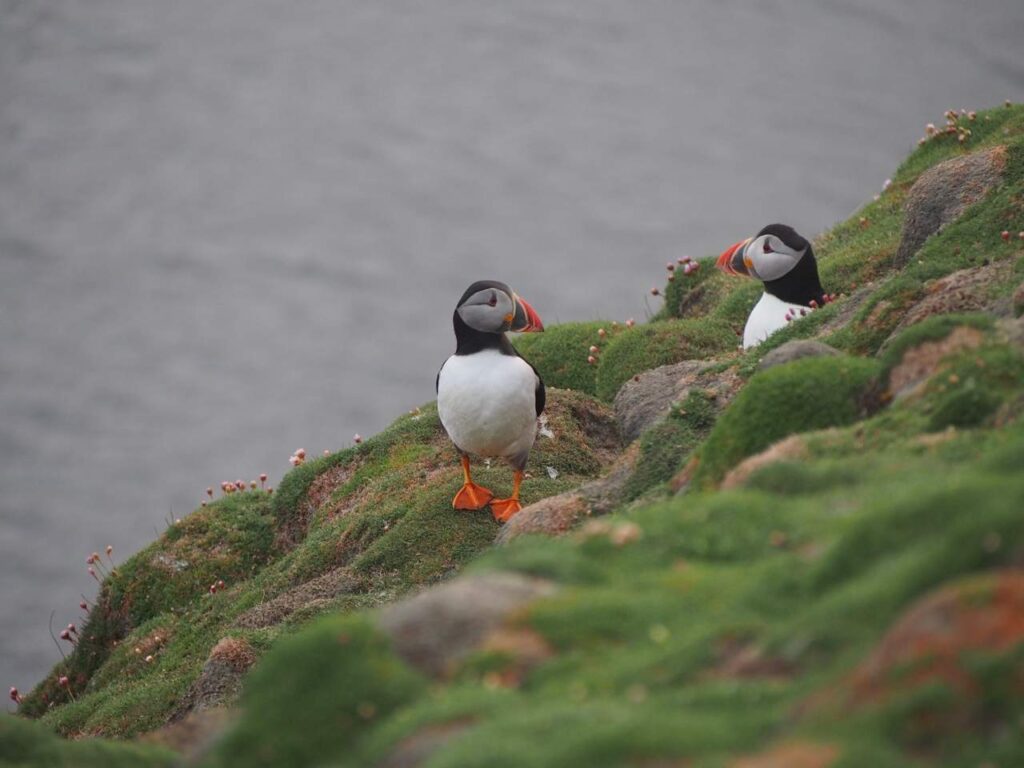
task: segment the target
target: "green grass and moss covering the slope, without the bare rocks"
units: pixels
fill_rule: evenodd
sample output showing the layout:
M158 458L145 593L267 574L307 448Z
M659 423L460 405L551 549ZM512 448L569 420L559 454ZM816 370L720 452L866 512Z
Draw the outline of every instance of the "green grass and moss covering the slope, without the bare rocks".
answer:
M894 670L891 685L872 695L860 695L853 682L912 601L943 585L959 589L978 572L1019 566L1024 550L1019 352L989 328L981 349L951 359L916 396L881 411L865 399L884 386L902 349L963 322L979 325L945 319L911 328L907 341L874 359L929 280L987 261L1012 259L1020 267L1024 258L1024 243L998 237L1024 228L1024 109L982 113L971 127L969 150L1008 144L1006 182L929 240L901 272L890 263L907 191L924 170L963 152L955 138L921 147L880 200L815 244L828 290L868 286L852 319L825 338L849 357L754 376L765 351L817 335L845 300L761 348L722 357L735 346L757 290L708 268L677 271L666 309L647 326L608 324L599 337L599 324L572 324L523 340L549 381L604 400L635 373L678 359L718 355L723 367L753 376L717 422L713 408L694 400L642 438L628 493L638 501L607 523L477 557L495 526L447 509L458 470L432 410L424 409L361 446L298 468L272 505L259 494L218 502L123 565L104 585L79 652L23 712L43 715L67 734L150 730L227 634L258 651L276 649L251 677L230 748L211 759L223 765L274 764L281 756L367 764L445 724L458 735L427 765L687 758L687 765L713 766L782 741L829 744L836 765L1021 762L1024 713L1001 682L1020 674L1018 645L963 654L961 677ZM685 317L675 316L680 312ZM591 344L599 347L595 365L586 360ZM820 393L831 398L827 408ZM565 408L553 418L566 439L542 439L534 480L523 486L527 500L600 470L579 427L581 410L600 407L582 394L561 396ZM741 489L715 492L728 469L770 441L754 439L755 428L778 425L780 412L790 418L771 437L803 433L809 458L762 469ZM691 452L698 458L693 486L702 490L668 498L664 481ZM557 480L549 481L547 466L559 470ZM498 490L507 483L498 470L481 477ZM225 539L237 550L204 561L212 570L167 566ZM512 674L514 653L479 654L450 683L428 687L358 612L280 640L312 613L373 607L471 560L474 569L521 570L562 585L519 620L553 651L532 671ZM269 628L232 624L261 600L333 568L347 568L358 588ZM215 579L227 590L211 596L205 589ZM971 584L976 596L992 592L987 583ZM339 653L339 636L360 650ZM136 647L155 648L154 660L141 660ZM56 685L58 674L72 678L75 701ZM963 676L970 694L958 687ZM284 722L275 712L303 717L275 727ZM344 737L316 737L339 719Z

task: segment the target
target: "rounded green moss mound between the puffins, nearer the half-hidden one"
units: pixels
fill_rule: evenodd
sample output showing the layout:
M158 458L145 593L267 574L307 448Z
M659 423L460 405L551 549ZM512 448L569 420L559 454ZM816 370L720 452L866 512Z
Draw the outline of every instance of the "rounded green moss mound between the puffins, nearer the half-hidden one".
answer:
M676 319L636 326L617 335L601 353L597 395L610 401L636 374L728 352L736 344L735 331L721 321Z

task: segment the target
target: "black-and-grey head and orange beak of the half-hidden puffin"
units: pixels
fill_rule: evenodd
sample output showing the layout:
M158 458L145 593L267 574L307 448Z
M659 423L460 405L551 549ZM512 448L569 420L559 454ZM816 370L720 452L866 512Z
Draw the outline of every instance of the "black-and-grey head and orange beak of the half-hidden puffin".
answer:
M729 246L717 266L729 274L746 274L765 284L765 291L791 304L824 301L814 250L786 224L769 224L753 238Z

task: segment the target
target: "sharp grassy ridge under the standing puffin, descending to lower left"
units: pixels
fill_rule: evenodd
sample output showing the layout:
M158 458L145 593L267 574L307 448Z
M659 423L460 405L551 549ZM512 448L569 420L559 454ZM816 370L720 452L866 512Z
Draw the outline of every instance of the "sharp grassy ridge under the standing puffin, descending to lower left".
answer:
M552 436L541 437L531 454L521 490L526 502L595 476L607 459L598 452L616 447L606 407L567 390L550 392ZM511 492L507 467L478 467L474 479L496 494ZM461 482L430 404L361 445L307 461L272 496L247 490L218 499L104 580L75 652L19 712L69 736L143 733L167 721L221 638L262 653L318 613L374 606L451 575L498 532L488 512L452 509ZM267 626L239 621L338 569L348 584L343 594L300 600ZM217 582L223 589L211 593Z

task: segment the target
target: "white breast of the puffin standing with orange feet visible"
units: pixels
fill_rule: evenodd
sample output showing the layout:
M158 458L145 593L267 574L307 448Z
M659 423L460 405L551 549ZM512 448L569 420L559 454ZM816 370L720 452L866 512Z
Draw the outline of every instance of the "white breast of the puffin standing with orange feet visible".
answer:
M537 437L537 374L521 357L452 355L437 379L437 415L452 441L481 457L513 457Z

